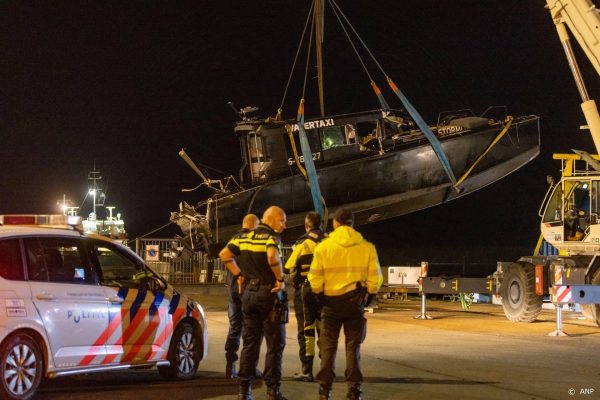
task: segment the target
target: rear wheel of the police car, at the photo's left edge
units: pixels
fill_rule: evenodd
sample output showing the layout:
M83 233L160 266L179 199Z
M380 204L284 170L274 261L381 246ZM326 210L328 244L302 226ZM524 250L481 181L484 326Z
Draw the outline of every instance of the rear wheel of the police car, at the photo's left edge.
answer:
M0 347L0 376L3 399L31 398L44 372L42 352L36 341L25 333L8 338Z

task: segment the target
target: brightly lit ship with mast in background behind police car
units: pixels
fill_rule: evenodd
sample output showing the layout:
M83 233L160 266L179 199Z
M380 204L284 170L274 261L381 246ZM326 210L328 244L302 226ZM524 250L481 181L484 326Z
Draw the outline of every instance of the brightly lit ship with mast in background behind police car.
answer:
M106 191L101 187L101 180L102 175L94 166L94 169L88 173L89 187L82 203L82 205L85 204L88 197L91 197L92 211L87 216L81 215L83 230L85 233L95 233L125 243L127 241L125 221L121 213L115 212L115 206L105 205ZM73 202L68 200L65 195L57 205L60 206L63 214L70 216L79 215L82 208L74 206Z

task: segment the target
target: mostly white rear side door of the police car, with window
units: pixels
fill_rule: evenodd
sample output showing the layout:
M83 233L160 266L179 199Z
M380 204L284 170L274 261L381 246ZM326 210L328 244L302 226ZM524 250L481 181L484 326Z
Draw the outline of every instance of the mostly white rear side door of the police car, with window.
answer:
M84 240L39 237L23 242L32 301L44 323L54 365L96 364L96 356L105 354L104 344L94 339L108 325L108 304Z

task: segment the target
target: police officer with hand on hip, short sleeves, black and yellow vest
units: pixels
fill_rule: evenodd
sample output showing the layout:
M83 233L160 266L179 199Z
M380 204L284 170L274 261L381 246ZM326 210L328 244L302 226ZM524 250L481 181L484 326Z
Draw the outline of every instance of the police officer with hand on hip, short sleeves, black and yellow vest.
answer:
M238 400L252 400L252 382L263 336L267 340L263 370L267 399L286 400L280 392L287 305L282 300L285 283L279 239L285 224L285 212L271 206L263 214L256 230L234 237L219 254L226 268L245 286L242 294L244 344L238 373Z

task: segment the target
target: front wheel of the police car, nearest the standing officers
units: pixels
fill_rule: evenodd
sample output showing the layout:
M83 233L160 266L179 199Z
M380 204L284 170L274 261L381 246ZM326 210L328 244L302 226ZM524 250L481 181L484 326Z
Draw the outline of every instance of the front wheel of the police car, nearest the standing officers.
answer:
M194 327L189 322L183 322L171 339L168 355L171 364L168 367L159 367L160 375L171 380L192 379L198 369L200 346Z

